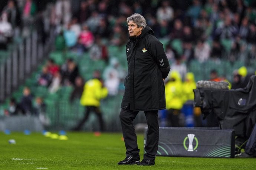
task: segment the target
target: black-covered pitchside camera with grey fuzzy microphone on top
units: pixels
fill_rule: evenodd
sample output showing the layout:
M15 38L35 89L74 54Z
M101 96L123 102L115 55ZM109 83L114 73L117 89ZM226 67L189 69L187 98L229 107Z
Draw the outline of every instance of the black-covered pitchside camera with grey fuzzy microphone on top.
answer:
M245 88L231 89L228 83L198 81L194 89L194 106L200 107L204 118L216 115L221 129L234 129L236 136L247 140L256 122L256 76Z

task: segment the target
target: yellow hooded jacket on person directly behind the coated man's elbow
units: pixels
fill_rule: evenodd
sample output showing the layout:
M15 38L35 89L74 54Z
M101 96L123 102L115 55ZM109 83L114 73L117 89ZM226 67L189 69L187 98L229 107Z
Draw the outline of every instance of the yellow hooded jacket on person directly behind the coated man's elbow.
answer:
M175 81L171 81L175 79ZM165 85L166 109L180 110L184 103L181 76L177 71L170 72L170 81Z

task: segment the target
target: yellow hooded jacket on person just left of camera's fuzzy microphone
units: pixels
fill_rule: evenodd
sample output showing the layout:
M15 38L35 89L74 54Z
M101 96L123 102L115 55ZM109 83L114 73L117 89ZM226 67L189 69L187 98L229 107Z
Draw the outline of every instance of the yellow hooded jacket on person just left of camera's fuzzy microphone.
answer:
M183 83L183 91L184 91L185 101L194 100L193 89L196 89L196 82L195 82L194 74L192 72L188 72L186 74L186 80Z

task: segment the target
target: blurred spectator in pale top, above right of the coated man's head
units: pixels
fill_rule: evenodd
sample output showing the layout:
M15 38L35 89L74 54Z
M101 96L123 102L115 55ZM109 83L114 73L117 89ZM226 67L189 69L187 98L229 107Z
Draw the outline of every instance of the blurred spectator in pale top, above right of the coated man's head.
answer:
M162 5L157 9L156 16L159 23L162 23L162 21L167 21L168 23L173 20L174 11L170 6L169 1L164 0L162 2Z

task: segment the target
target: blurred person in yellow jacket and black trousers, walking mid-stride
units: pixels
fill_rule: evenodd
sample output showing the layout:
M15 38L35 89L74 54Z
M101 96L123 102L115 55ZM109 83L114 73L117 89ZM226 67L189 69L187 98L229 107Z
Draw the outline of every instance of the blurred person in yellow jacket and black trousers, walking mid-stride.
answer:
M104 131L104 120L99 106L101 99L108 95L108 90L103 86L98 77L97 73L95 78L90 79L84 85L80 103L82 106L85 106L85 116L73 130L81 130L83 124L89 118L89 114L94 112L98 116L100 130Z

